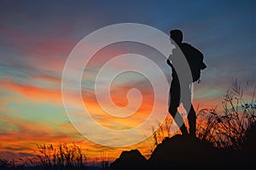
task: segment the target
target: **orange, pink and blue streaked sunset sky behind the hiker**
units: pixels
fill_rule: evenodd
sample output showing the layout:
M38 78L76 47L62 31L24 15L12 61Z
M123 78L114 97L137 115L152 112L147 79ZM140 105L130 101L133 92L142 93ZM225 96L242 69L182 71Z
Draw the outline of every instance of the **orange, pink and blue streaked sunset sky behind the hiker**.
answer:
M245 99L251 99L256 85L255 1L1 0L0 157L32 156L36 144L72 142L82 145L91 160L101 156L102 150L112 158L130 149L148 155L148 141L108 148L84 138L69 122L62 103L62 71L75 45L92 31L119 23L153 26L167 35L178 28L183 31L184 42L201 50L207 69L202 71L201 83L195 84L194 105L217 105L221 111L221 101L234 78L241 82ZM143 77L127 74L113 85L112 98L119 106L127 105L130 88L142 92L143 105L129 121L102 116L93 94L102 63L131 52L156 57L147 50L143 46L117 44L100 51L90 61L83 75L82 94L97 122L123 129L137 126L148 115L154 101L152 87ZM122 64L113 69L119 66ZM168 65L163 65L163 70L171 74ZM75 107L75 99L73 103ZM96 135L114 142L110 136Z

